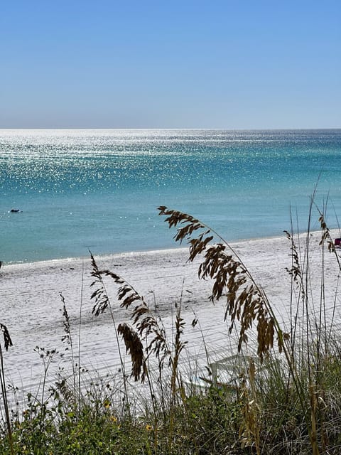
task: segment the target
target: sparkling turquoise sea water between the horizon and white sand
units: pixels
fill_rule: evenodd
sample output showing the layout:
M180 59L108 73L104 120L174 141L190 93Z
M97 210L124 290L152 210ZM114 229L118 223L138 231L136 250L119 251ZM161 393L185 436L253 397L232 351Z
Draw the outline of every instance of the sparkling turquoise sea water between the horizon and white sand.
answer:
M340 129L0 130L0 260L173 247L158 205L227 240L282 235L290 207L304 230L318 179L336 227L340 169Z

